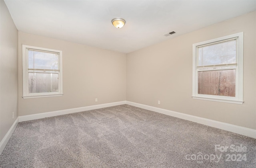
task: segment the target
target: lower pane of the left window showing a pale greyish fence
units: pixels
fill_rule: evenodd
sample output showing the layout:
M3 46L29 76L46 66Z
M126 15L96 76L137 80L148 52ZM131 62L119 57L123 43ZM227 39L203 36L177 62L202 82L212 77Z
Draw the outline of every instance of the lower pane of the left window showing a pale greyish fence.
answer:
M28 73L29 93L58 92L58 74Z

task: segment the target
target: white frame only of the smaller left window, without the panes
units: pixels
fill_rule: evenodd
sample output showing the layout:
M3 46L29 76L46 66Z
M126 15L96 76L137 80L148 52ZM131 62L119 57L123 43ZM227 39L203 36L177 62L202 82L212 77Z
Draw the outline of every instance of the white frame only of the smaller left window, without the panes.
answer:
M46 52L54 52L59 54L59 83L58 83L58 92L47 92L47 93L29 93L29 81L28 81L28 49L41 50ZM22 45L22 74L23 74L23 98L42 98L42 97L53 97L53 96L62 96L62 51L55 49L47 49L42 47L34 47L30 45Z

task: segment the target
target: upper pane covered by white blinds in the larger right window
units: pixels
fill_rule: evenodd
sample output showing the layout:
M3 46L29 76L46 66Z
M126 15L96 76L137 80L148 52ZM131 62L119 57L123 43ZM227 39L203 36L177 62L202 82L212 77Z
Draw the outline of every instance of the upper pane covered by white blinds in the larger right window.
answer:
M198 48L198 66L236 64L236 39Z

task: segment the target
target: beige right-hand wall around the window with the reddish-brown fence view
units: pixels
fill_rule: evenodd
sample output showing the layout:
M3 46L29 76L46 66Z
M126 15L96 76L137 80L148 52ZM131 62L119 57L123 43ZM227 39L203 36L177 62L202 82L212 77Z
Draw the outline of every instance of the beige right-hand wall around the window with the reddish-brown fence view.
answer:
M192 99L192 44L242 31L244 104ZM129 53L126 100L256 129L255 46L256 13L252 12Z

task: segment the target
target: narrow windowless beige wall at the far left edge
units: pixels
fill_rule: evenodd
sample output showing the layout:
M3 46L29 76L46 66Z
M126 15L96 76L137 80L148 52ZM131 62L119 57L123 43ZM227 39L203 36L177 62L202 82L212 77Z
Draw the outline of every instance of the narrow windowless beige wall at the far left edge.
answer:
M18 117L18 31L3 0L0 0L0 37L1 142Z

